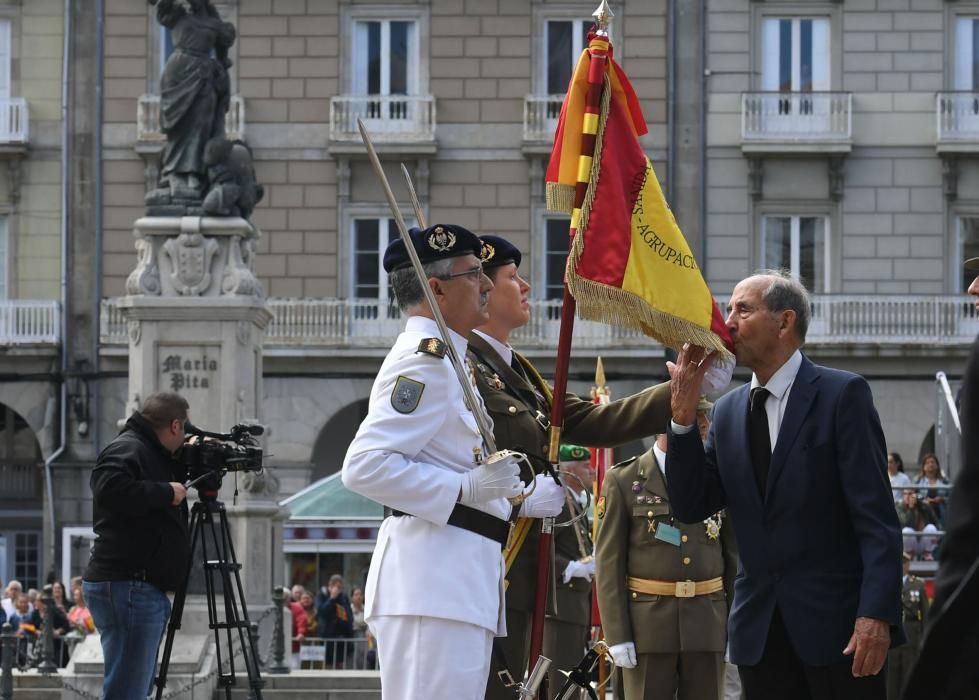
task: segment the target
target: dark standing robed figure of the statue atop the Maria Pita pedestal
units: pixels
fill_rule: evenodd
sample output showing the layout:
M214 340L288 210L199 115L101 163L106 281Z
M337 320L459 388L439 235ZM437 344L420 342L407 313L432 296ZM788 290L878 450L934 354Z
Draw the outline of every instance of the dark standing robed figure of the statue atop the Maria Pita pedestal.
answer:
M157 21L173 38L173 53L160 80L160 186L146 195L147 214L203 213L209 189L205 148L224 137L230 102L228 50L234 25L223 21L210 0L149 0Z

